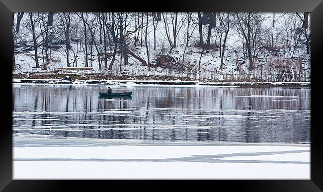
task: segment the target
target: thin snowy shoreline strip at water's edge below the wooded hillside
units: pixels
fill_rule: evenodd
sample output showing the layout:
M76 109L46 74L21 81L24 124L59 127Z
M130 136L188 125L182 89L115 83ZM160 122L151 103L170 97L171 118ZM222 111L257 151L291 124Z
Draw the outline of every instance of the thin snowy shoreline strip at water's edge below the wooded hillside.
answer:
M162 81L162 80L62 80L62 79L12 79L12 83L28 84L73 84L73 85L126 85L126 86L145 86L145 85L163 85L163 86L235 86L235 87L257 87L257 86L275 86L275 87L310 87L311 82L201 82L201 81Z

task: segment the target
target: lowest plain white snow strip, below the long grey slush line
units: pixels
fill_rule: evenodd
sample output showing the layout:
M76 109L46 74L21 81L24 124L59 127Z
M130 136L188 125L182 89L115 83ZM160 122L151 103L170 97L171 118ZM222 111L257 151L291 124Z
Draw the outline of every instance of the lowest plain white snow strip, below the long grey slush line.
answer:
M13 179L310 179L310 164L15 161L13 166Z

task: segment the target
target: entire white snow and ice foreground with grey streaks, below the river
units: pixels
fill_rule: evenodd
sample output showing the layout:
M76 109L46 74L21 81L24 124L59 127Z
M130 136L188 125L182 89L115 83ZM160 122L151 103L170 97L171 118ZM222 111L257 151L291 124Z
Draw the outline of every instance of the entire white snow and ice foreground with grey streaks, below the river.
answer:
M15 137L13 179L310 179L310 144Z

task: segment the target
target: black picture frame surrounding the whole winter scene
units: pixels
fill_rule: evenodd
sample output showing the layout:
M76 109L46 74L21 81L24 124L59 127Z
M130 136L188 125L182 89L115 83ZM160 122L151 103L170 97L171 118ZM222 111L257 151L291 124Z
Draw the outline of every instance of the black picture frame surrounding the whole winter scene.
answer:
M12 12L311 12L311 105L312 110L320 109L318 94L320 91L320 69L322 69L323 50L323 2L322 0L187 0L177 1L98 1L98 0L0 0L0 54L1 54L1 83L6 89L3 91L4 113L0 126L0 190L3 191L71 191L77 188L94 191L98 187L117 190L147 189L144 180L12 180L12 114L8 111L12 107ZM316 88L317 87L317 88ZM316 98L317 97L317 98ZM11 106L10 102L11 101ZM281 192L315 192L323 190L323 150L319 113L311 114L311 179L310 180L207 180L197 185L196 180L184 181L181 189L197 187L239 191L281 191ZM166 181L166 180L164 180ZM159 182L164 182L159 181ZM182 180L169 181L177 185ZM113 182L110 183L110 182ZM153 180L150 188L169 190L170 185L161 185ZM199 182L202 182L199 180ZM143 186L143 184L145 186ZM185 187L184 187L185 186Z

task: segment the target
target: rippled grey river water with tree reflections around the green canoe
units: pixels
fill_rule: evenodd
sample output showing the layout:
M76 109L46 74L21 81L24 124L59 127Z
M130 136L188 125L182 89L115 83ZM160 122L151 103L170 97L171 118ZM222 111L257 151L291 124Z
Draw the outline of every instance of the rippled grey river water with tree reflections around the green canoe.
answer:
M13 84L13 136L310 142L310 88Z

